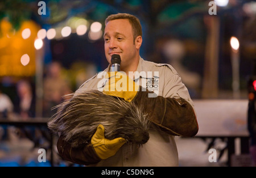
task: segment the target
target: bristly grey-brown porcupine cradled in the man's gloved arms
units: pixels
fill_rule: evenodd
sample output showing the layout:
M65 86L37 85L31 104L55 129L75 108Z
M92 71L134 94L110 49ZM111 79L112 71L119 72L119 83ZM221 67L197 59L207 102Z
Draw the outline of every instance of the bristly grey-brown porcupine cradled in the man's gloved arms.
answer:
M57 112L48 122L48 128L54 133L61 133L72 147L90 142L99 124L105 128L105 138L122 137L138 146L148 141L148 115L133 102L98 90L66 96L71 99L55 107Z

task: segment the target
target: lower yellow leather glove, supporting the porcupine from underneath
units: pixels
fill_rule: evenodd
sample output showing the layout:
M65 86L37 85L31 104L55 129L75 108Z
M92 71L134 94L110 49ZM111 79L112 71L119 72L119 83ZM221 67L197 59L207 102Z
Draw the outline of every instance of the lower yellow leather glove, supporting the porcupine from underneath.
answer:
M101 124L98 125L97 130L91 139L92 146L98 157L101 159L107 159L110 156L113 156L126 142L126 140L122 137L112 140L106 139L104 132L104 126Z

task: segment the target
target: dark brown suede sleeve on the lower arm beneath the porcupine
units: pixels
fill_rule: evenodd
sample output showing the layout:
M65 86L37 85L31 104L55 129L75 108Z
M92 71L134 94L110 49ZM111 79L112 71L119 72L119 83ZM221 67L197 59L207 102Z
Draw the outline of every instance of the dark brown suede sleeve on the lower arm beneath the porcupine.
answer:
M57 141L57 150L61 158L76 164L95 164L100 162L91 144L84 147L74 148L60 135Z

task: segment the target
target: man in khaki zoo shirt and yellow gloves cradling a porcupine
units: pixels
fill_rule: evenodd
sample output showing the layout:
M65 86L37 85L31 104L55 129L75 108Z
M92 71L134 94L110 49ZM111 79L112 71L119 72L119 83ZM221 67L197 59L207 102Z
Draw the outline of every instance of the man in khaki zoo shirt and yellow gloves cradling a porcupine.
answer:
M142 45L141 24L133 15L110 15L105 21L105 56L109 63L113 54L121 57L120 70L129 76L137 71L139 75L129 76L134 81L134 91L105 90L112 88L121 75L108 73L115 82L101 86L102 78L95 75L86 81L76 92L85 88L100 90L108 95L118 96L137 105L151 117L150 138L142 147L126 144L123 138L108 140L104 138L104 127L98 126L88 145L82 149L72 148L60 135L57 143L60 156L78 164L90 166L178 166L178 154L174 135L193 136L198 131L193 103L179 74L167 64L144 61L139 55ZM151 72L152 75L144 76ZM117 76L118 75L118 76ZM122 75L124 78L125 75ZM146 84L141 80L146 78ZM110 81L110 80L109 80ZM139 82L138 82L139 81ZM135 83L136 82L136 83ZM141 86L136 87L136 84ZM100 88L102 87L102 88ZM145 87L147 90L145 90ZM151 91L151 88L153 88ZM154 92L158 96L152 96Z

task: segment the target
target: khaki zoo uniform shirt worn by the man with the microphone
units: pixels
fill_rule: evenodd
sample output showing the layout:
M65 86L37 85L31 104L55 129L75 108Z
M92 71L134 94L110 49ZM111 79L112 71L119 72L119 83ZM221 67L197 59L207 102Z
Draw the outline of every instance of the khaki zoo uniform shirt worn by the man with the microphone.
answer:
M110 66L104 71L109 71L109 69ZM144 72L147 74L147 71L151 71L152 75L147 75L146 80L144 80L146 82L140 82L142 86L146 84L148 90L152 90L165 98L183 98L193 107L187 88L171 65L144 61L140 57L137 71L139 75L134 77L135 82L139 78L145 79ZM96 74L82 84L77 92L90 88L97 89L100 80L102 78L98 78ZM141 147L126 143L114 156L91 166L179 166L174 136L164 133L154 125L151 126L149 135L150 139Z

